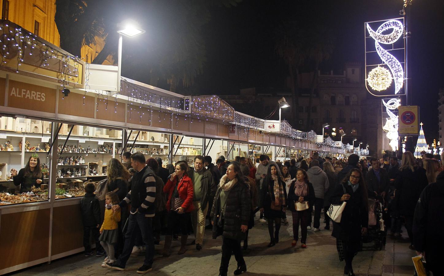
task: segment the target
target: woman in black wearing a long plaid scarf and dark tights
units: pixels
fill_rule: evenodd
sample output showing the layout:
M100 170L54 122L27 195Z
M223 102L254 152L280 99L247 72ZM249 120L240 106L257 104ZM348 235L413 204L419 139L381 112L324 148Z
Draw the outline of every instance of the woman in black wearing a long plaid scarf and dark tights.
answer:
M270 234L270 244L268 244L268 247L272 247L279 242L282 211L285 211L285 200L287 198L285 182L279 177L277 170L279 170L277 165L271 164L262 184L263 196L260 207L261 211L264 211L264 217L267 218L268 233ZM275 231L273 231L273 223L276 225Z

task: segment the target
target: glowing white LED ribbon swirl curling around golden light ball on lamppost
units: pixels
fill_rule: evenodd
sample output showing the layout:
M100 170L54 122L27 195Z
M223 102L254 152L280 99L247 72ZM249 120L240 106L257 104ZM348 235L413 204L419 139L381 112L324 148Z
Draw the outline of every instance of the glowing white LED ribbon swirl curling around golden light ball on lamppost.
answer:
M381 26L379 26L376 32L373 31L372 28L370 28L369 24L366 24L366 27L367 30L369 31L369 35L375 40L375 48L379 57L381 58L382 61L384 61L385 64L387 64L390 71L392 72L393 80L395 83L395 94L398 94L404 84L404 69L402 68L401 63L393 55L389 54L388 51L386 51L383 47L381 47L380 43L383 44L395 43L398 39L402 37L402 34L404 32L404 26L399 20L388 20L383 24L381 24ZM383 32L388 31L390 29L392 29L391 33L387 35L382 34ZM374 90L377 90L371 85L370 82L368 83L370 87L372 87Z

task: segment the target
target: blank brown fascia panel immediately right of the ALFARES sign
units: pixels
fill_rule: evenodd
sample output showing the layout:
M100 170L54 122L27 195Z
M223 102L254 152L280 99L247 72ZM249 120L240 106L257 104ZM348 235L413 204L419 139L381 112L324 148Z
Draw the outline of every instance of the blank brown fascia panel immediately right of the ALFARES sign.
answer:
M59 114L94 118L94 97L78 93L70 93L68 97L59 97ZM83 99L83 96L85 99ZM83 103L85 103L83 105Z

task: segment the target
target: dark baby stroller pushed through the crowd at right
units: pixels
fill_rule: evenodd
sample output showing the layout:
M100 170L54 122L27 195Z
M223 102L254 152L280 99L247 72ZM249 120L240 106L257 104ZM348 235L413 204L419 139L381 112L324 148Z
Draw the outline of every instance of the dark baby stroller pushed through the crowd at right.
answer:
M374 248L381 250L385 244L385 226L382 218L384 207L382 197L369 198L369 229L367 235L362 237L364 243L374 242Z

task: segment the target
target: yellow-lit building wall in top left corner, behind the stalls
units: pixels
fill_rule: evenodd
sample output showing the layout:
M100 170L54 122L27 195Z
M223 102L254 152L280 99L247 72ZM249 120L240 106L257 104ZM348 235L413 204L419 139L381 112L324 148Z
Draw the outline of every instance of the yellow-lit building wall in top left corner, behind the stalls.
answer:
M56 15L56 0L0 0L1 19L14 22L30 32L35 33L48 42L60 46L60 35L54 16ZM7 8L7 10L4 8ZM38 29L38 34L37 34ZM104 42L96 37L96 45L82 47L82 59L87 63L102 51ZM112 64L111 56L103 64Z

